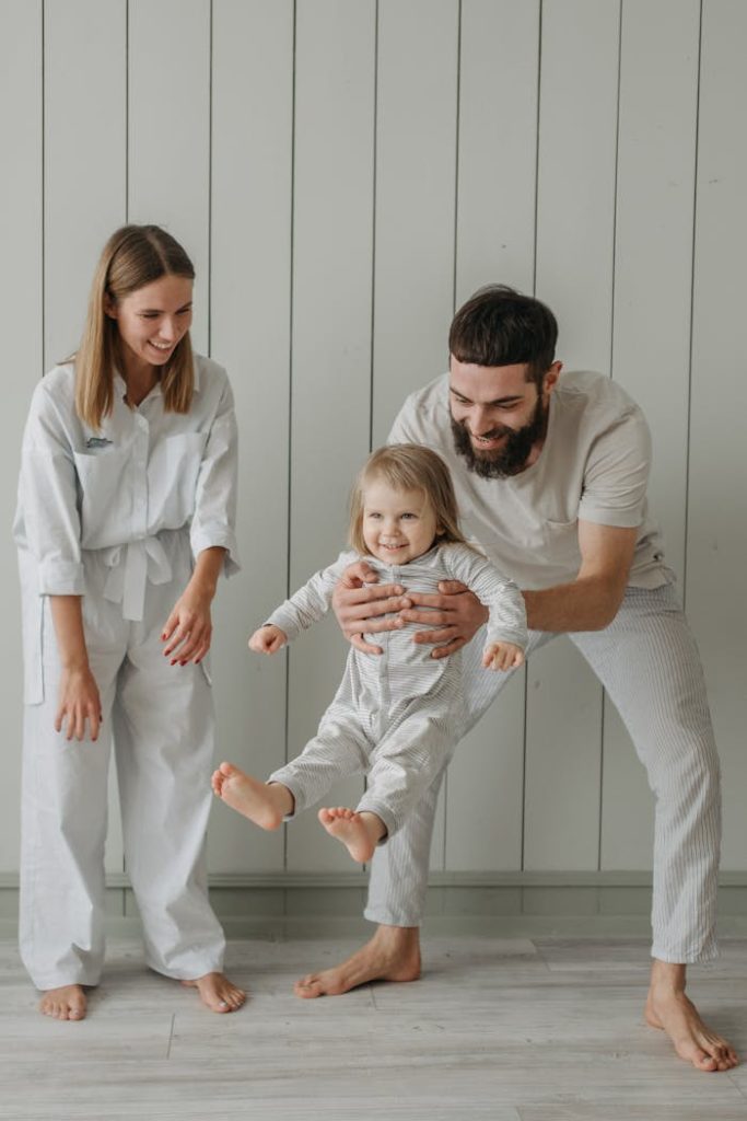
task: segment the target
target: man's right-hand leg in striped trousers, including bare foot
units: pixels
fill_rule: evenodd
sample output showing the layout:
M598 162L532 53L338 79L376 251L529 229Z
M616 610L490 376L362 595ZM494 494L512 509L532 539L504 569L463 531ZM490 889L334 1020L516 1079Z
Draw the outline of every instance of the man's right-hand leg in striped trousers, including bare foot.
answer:
M571 636L631 733L656 796L654 958L646 1018L702 1071L737 1063L684 995L717 954L719 763L694 639L672 587L631 589L604 631Z

